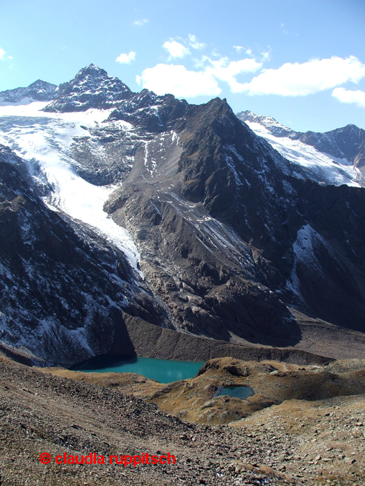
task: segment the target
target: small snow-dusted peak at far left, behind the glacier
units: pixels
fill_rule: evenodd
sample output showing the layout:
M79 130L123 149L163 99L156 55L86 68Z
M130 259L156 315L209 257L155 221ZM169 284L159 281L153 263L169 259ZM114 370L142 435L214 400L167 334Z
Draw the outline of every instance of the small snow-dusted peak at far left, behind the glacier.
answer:
M27 87L17 87L15 90L0 92L0 105L29 103L31 101L50 101L54 99L57 85L38 79Z

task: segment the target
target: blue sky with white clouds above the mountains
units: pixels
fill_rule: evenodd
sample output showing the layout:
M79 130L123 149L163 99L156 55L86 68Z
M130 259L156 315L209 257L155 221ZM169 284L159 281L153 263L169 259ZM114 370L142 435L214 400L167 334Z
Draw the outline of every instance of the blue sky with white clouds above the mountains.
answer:
M365 128L364 0L1 0L0 91L91 62L297 131Z

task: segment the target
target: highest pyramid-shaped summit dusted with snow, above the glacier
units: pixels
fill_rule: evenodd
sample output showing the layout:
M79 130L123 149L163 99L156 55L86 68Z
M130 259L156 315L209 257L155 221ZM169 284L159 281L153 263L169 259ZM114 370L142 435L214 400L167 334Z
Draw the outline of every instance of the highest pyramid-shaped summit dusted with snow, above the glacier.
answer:
M108 76L100 67L90 64L83 67L68 83L58 86L55 99L44 111L73 112L89 108L107 109L117 100L131 95L129 87L120 79Z

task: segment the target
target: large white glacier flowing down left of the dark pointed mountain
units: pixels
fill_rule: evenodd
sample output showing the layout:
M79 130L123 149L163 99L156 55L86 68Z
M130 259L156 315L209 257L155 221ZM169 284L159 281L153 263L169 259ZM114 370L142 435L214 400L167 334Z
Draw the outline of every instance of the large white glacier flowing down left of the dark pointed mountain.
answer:
M40 185L51 187L49 194L43 196L49 208L92 226L99 235L123 251L133 269L143 278L138 265L140 253L131 235L103 210L105 201L118 185L99 186L85 181L75 170L78 162L70 156L73 137L85 135L85 128L99 126L111 110L40 111L47 104L49 101L29 103L28 99L15 105L3 103L0 106L0 143L9 146L27 162L29 174ZM126 121L113 123L122 125L126 131L133 130Z

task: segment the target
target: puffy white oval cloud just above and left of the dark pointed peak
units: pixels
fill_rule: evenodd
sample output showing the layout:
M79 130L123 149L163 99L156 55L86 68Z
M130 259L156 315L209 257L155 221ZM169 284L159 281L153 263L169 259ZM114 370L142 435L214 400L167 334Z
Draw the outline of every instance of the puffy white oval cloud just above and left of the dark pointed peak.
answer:
M156 94L175 94L176 97L217 96L222 90L211 74L188 71L182 65L158 64L145 69L137 83Z

